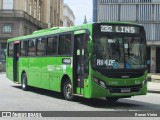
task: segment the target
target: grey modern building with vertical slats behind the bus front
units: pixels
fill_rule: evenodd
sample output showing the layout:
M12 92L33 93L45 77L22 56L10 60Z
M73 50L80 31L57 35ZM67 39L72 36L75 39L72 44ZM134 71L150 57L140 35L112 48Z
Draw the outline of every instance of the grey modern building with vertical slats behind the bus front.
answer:
M160 0L93 0L93 21L126 21L144 26L148 71L160 73Z

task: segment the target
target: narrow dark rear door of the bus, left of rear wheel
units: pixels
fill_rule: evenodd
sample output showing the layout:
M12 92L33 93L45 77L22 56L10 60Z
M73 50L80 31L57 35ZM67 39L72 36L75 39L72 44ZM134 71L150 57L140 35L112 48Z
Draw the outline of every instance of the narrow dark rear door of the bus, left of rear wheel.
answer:
M13 81L18 82L18 59L19 59L19 41L14 42L13 52Z

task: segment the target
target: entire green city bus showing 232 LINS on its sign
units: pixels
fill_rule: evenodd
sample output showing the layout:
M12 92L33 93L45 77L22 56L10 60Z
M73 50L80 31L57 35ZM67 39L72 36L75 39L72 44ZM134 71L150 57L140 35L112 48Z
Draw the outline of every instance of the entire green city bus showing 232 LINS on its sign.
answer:
M147 93L143 26L101 22L54 27L8 40L6 75L29 86L114 102Z

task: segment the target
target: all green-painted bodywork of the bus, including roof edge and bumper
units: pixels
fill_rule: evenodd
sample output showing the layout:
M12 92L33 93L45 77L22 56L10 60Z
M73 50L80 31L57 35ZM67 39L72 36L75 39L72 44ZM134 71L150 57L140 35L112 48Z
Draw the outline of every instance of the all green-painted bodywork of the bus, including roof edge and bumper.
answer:
M105 22L107 24L130 24L128 22ZM54 34L61 33L73 33L73 35L85 33L85 30L90 31L92 35L93 24L84 24L82 26L73 26L69 28L51 28L40 31L35 31L31 35L17 37L9 39L9 42L28 40L30 38L45 37ZM92 42L92 41L89 41ZM89 58L91 53L89 53ZM73 64L62 64L62 58L70 58L73 61L73 57L60 57L60 56L45 56L45 57L19 57L18 60L18 81L21 83L22 73L25 72L28 79L28 85L47 90L53 90L61 92L62 77L67 75L73 84ZM13 58L6 57L6 75L7 78L13 81ZM145 84L138 93L116 93L111 94L108 89L104 89L96 84L92 77L95 76L105 82L107 86L134 86L137 83L142 83L146 79L146 74L140 78L132 79L114 79L107 78L102 74L92 70L91 61L89 60L89 76L84 79L84 88L76 88L77 94L83 95L85 98L97 98L97 97L131 97L134 95L145 95L147 92L147 84Z

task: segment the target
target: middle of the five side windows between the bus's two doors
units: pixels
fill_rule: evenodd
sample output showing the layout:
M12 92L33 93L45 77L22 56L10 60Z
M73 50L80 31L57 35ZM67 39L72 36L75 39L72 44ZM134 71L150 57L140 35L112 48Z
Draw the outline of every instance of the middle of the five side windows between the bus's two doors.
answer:
M37 43L37 56L44 56L45 55L45 39L39 38Z

